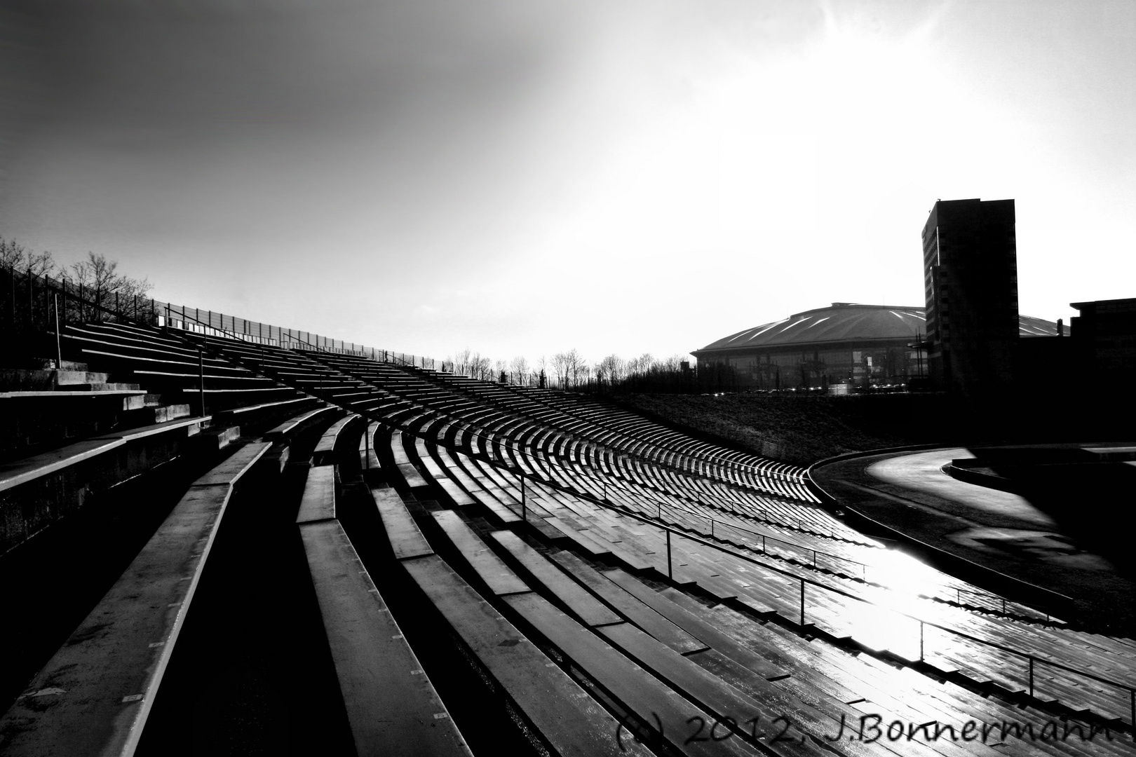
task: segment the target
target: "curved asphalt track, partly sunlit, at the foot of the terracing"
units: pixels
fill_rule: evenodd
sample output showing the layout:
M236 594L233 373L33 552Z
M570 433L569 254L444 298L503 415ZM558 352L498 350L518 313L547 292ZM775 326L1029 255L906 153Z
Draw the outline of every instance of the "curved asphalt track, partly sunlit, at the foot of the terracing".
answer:
M1071 600L1076 617L1064 620L1136 636L1136 583L1025 497L943 471L952 460L972 456L962 447L891 452L826 463L810 472L838 507L851 511L851 524L861 528L864 522L855 522L855 515L863 515L889 529L884 536L895 537L902 548L949 572L966 573L960 577L988 590L1036 605L1037 599L1029 600L1029 586L1041 587Z

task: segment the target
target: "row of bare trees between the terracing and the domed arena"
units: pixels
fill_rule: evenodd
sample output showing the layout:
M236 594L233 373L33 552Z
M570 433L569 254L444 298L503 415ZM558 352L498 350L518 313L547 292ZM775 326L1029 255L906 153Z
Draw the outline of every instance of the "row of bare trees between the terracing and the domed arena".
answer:
M515 386L638 389L645 384L659 382L663 378L680 379L688 376L691 372L688 363L686 369L683 367L686 361L683 355L660 360L651 354L642 354L625 360L611 354L593 363L575 347L558 352L552 358L541 355L533 362L524 356L507 361L493 360L466 347L444 360L442 370Z

